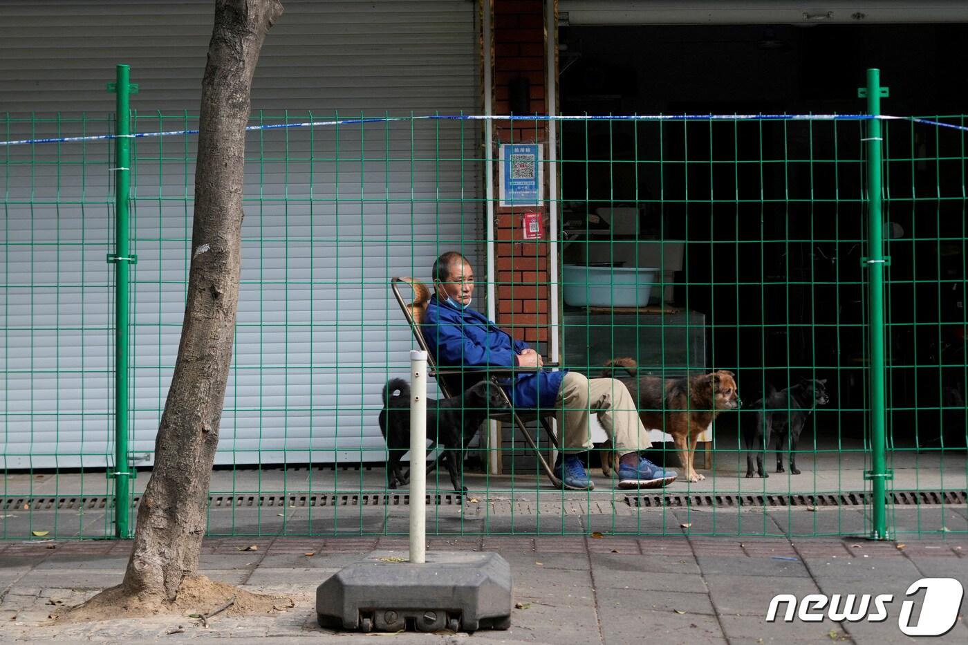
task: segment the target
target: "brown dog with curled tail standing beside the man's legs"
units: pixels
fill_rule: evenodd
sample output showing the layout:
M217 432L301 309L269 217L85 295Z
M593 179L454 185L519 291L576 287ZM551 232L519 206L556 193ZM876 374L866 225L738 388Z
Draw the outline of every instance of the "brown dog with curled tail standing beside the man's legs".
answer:
M605 368L602 371L604 378L618 379L628 387L639 407L643 425L672 435L679 448L685 478L689 481L705 479L706 476L696 473L692 465L697 438L719 413L740 407L736 375L718 370L679 379L640 377L638 365L632 358L610 360L605 363ZM628 376L622 376L620 371ZM606 450L611 446L611 440L606 442ZM608 457L602 455L602 473L612 476L612 471L619 470L619 455L614 450L607 454Z

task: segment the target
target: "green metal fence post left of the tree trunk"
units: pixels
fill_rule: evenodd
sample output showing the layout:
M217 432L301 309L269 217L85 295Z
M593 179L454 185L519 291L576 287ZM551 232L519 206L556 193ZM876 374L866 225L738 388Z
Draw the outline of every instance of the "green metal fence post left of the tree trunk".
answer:
M131 464L128 459L128 270L137 259L128 248L128 200L131 175L131 111L129 97L137 93L137 85L129 80L131 68L117 66L117 79L107 83L107 91L117 95L114 139L115 161L115 218L117 243L107 261L117 267L115 273L116 307L114 312L114 536L131 537L129 522Z

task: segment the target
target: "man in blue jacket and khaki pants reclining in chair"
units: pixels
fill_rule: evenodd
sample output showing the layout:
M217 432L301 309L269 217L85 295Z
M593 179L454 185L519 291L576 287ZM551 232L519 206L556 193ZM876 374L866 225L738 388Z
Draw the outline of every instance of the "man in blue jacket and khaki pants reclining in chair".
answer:
M564 457L559 455L555 474L565 488L594 488L582 459L582 453L591 448L592 411L620 454L620 488L660 488L676 479L675 471L639 455L639 450L651 445L649 432L624 384L615 379L587 379L567 370L540 369L544 364L541 354L470 309L474 275L460 253L441 255L434 262L433 278L434 295L420 328L441 367L539 368L517 375L513 387L504 390L515 409L558 411Z

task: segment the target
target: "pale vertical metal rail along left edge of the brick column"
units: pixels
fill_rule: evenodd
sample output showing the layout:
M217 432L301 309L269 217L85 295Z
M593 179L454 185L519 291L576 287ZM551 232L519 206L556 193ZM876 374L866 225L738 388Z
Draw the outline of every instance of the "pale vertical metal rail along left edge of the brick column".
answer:
M481 25L484 32L484 113L488 116L494 113L491 92L491 0L482 0L484 21ZM491 154L494 149L494 122L484 121L484 195L487 207L487 317L492 321L498 320L498 298L494 284L497 280L494 266L494 162ZM500 474L500 433L498 421L488 421L488 470L491 475Z

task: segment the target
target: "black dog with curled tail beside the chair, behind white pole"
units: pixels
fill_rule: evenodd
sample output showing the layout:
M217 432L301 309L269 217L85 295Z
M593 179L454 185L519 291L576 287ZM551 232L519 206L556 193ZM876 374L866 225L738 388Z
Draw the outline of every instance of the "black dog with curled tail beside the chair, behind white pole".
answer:
M454 490L467 491L461 486L457 466L460 463L458 448L468 447L470 440L488 417L489 411L507 410L507 401L498 385L481 381L460 396L449 399L427 399L427 436L434 445L444 447L437 460L427 465L427 472L437 468L444 460ZM383 409L379 413L379 431L383 433L389 457L386 467L390 471L390 488L409 481L400 463L410 447L410 386L403 379L390 379L383 385ZM437 438L436 441L434 438Z

